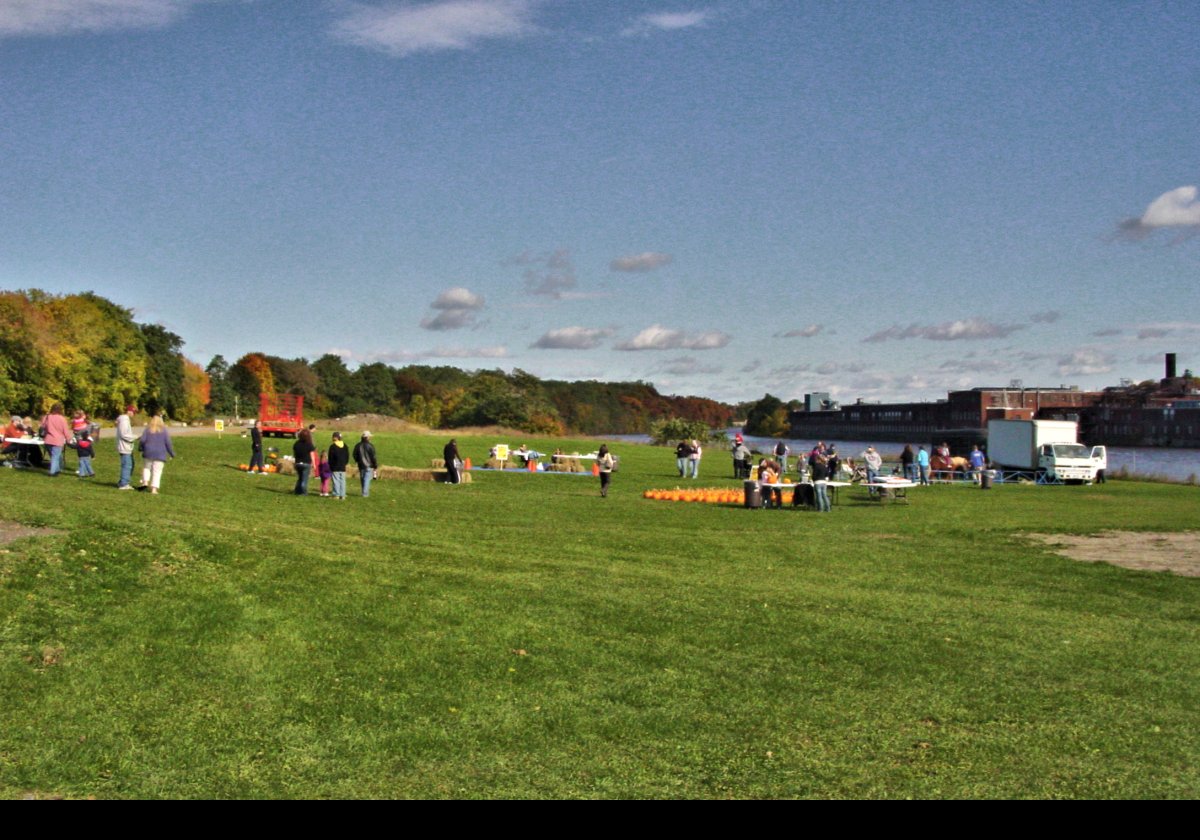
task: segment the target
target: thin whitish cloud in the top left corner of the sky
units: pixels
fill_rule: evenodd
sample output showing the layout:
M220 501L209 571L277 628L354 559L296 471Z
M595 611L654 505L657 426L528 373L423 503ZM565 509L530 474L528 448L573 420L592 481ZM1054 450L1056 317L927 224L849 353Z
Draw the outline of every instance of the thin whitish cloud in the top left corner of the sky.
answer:
M200 0L0 0L0 37L166 26Z

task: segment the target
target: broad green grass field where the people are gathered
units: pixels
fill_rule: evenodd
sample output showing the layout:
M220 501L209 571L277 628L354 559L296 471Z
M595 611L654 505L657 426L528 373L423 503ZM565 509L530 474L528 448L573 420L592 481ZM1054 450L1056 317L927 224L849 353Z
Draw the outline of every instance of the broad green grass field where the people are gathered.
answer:
M94 484L0 470L4 518L62 532L0 546L2 796L1200 796L1200 580L1019 535L1196 528L1195 487L748 511L643 499L674 458L622 445L607 499L337 503L175 444L157 497L113 488L110 439Z

